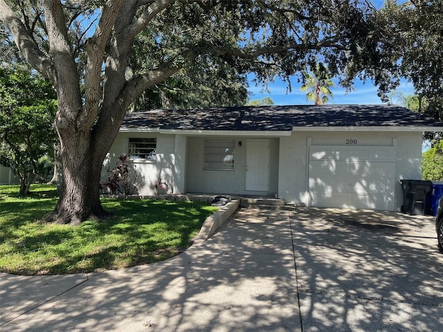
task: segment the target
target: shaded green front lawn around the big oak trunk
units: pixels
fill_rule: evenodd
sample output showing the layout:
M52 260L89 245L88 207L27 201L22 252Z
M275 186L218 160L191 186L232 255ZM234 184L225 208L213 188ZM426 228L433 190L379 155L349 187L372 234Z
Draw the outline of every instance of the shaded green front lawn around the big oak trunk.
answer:
M33 185L19 197L0 186L0 271L19 275L88 273L168 259L192 244L208 203L102 199L115 214L81 225L44 223L57 203L55 186Z

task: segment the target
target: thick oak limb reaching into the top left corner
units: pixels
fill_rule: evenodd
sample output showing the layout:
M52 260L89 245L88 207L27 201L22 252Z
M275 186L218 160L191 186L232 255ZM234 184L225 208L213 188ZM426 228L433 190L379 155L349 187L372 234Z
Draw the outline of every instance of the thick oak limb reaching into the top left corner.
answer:
M50 82L57 81L55 75L55 66L48 55L42 52L35 43L30 31L21 23L5 0L0 0L0 21L8 27L15 44L24 55L26 61L41 73Z

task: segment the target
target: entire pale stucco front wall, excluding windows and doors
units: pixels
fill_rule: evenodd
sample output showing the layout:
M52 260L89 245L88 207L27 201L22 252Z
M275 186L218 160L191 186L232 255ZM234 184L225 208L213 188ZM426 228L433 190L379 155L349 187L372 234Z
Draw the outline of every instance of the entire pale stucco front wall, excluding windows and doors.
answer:
M235 140L235 169L208 171L204 165L204 140L217 136L186 136L160 133L119 133L109 151L107 166L112 168L116 157L127 153L128 138L157 138L156 161L135 161L134 168L143 176L139 194L156 194L158 178L168 184L168 193L255 194L274 196L288 203L309 203L307 160L310 145L345 145L347 139L357 145L395 146L397 156L395 200L397 210L403 203L399 180L421 179L422 133L378 131L293 131L291 136L257 138L230 136ZM221 136L220 136L221 137ZM223 136L226 138L225 136ZM269 191L245 190L246 141L269 140ZM240 145L239 142L242 142ZM105 168L104 168L105 171ZM106 172L103 172L103 179ZM140 177L141 178L141 177Z

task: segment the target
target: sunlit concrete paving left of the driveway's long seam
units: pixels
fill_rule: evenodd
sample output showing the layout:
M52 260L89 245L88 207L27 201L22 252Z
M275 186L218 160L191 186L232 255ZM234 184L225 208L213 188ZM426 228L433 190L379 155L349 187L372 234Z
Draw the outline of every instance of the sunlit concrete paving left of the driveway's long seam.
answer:
M0 331L301 331L289 212L240 210L156 264L0 277Z

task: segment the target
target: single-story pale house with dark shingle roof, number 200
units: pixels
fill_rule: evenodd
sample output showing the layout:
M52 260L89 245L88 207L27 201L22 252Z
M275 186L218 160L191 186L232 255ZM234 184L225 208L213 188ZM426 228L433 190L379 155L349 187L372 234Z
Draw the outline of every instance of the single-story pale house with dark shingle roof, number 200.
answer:
M443 123L395 105L301 105L129 113L107 167L128 154L138 194L270 196L399 211L422 178L422 133Z

